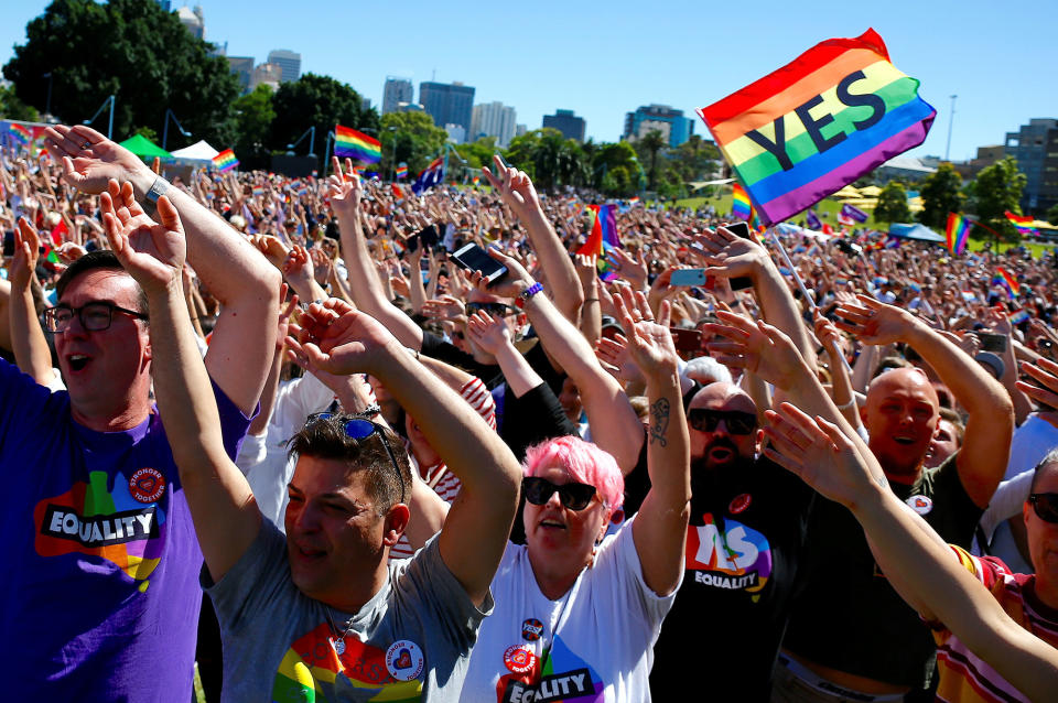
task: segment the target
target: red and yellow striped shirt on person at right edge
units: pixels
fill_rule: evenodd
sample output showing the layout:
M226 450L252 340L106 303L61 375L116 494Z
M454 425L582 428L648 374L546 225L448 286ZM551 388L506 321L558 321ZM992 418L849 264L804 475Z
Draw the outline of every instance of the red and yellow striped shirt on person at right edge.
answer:
M1058 612L1036 598L1035 576L1012 573L994 556L973 556L962 548L951 545L959 561L986 587L1011 618L1051 647L1058 647ZM974 655L950 630L938 626L937 667L940 684L937 700L950 703L981 703L995 701L1027 701L1017 689L1006 682L992 667Z

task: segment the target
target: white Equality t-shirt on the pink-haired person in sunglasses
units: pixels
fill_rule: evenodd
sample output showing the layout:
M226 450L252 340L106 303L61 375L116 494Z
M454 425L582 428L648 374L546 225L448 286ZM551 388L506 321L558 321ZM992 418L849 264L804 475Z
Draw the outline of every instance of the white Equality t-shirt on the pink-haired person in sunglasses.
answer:
M527 548L507 545L461 701L650 700L654 643L679 586L661 597L644 582L634 522L603 541L558 601L540 592Z

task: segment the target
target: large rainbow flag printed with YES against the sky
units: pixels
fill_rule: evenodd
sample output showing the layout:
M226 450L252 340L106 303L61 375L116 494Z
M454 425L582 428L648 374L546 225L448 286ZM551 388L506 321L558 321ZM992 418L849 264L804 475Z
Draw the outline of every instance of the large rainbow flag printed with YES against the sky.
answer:
M922 143L937 111L867 30L817 44L698 115L771 225Z

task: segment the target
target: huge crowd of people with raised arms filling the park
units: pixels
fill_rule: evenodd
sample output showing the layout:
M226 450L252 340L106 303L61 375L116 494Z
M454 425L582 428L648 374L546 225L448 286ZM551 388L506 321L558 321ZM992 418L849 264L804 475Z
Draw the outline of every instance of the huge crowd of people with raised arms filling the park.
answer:
M0 159L12 697L1058 690L1054 252Z

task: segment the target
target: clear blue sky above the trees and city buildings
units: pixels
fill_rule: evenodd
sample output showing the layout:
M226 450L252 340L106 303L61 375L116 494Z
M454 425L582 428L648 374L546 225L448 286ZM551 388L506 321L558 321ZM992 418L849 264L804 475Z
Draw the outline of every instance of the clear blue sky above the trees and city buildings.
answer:
M25 23L47 3L2 4L0 62L7 63L12 46L25 41ZM421 80L462 80L477 89L476 102L514 106L530 129L555 108L573 109L596 141L616 140L625 112L640 105L693 116L819 41L872 26L937 108L929 137L913 154L943 156L953 94L952 159L1003 143L1032 117L1058 117L1054 0L201 4L206 39L226 41L228 54L262 62L272 48L300 52L303 72L344 80L373 105L381 102L387 75L410 77L417 98ZM700 120L694 131L706 133Z

